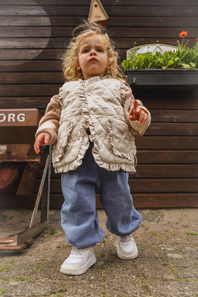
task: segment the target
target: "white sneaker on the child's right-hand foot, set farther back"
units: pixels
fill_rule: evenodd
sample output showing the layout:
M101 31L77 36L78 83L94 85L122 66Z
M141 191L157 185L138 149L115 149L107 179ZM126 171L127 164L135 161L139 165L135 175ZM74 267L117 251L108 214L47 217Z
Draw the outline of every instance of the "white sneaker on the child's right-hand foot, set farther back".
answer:
M132 234L118 236L116 235L117 254L121 259L135 259L138 255L137 247Z

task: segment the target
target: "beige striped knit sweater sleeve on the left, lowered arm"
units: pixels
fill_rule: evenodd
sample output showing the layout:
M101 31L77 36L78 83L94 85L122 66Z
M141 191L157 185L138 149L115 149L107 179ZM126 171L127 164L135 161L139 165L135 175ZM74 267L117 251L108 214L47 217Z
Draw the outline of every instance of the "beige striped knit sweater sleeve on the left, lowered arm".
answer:
M58 136L59 121L61 117L60 100L58 95L51 98L50 103L47 105L45 115L39 122L35 137L42 132L50 134L50 140L47 144L56 143Z

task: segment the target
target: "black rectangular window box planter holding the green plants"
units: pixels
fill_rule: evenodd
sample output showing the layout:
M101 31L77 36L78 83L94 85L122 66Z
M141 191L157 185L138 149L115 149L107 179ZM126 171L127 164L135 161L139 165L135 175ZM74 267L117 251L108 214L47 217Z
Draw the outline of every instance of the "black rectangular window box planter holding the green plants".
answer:
M194 89L198 87L198 69L128 69L132 89Z

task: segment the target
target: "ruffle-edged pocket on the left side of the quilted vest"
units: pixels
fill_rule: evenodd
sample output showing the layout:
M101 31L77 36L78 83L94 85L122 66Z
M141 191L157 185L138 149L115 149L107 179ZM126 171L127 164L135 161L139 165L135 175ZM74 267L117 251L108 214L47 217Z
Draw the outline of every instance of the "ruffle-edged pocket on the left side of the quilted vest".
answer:
M61 161L64 155L64 149L68 142L68 137L72 130L72 122L66 121L59 127L58 138L56 144L53 146L52 150L52 162L57 163Z

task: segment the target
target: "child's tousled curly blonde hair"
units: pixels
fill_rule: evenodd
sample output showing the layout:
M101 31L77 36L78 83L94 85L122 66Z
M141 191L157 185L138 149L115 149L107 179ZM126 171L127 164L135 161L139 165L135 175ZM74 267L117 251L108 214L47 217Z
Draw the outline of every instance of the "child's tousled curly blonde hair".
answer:
M104 46L104 50L107 52L108 64L104 75L110 75L120 81L126 81L126 75L118 66L118 53L115 50L115 42L109 36L109 31L100 24L90 20L83 20L83 23L74 29L73 38L71 39L65 53L60 58L66 81L77 80L78 78L83 79L81 69L77 70L79 45L81 40L92 35L101 36L101 43Z

